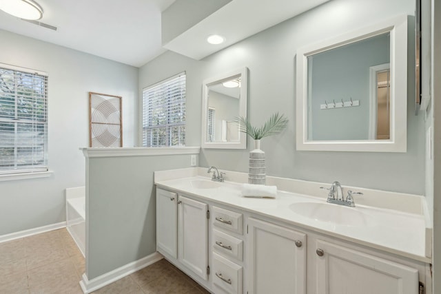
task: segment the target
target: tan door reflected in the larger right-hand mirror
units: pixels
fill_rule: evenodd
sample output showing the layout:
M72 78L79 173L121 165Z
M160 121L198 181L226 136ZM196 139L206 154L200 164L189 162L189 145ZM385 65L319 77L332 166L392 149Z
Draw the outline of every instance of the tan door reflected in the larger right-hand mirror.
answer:
M377 72L377 140L390 138L391 71Z

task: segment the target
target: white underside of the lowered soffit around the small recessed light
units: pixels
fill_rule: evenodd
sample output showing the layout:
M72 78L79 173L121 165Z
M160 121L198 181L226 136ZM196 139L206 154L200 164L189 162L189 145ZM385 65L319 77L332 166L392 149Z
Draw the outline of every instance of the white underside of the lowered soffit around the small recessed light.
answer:
M164 47L192 59L203 59L327 1L233 0ZM226 41L220 45L209 44L205 40L210 34L220 34Z

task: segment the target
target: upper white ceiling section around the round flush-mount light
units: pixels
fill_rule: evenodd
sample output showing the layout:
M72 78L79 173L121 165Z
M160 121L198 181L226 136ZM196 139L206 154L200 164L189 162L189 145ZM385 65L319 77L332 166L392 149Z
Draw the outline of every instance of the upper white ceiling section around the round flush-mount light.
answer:
M0 29L140 67L165 49L161 12L174 0L36 0L42 23L57 32L0 10Z

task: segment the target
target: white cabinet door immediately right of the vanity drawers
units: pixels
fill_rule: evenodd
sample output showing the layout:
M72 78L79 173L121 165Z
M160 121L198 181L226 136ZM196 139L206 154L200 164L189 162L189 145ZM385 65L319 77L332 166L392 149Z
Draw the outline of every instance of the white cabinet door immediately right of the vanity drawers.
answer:
M249 218L248 292L306 292L306 235Z

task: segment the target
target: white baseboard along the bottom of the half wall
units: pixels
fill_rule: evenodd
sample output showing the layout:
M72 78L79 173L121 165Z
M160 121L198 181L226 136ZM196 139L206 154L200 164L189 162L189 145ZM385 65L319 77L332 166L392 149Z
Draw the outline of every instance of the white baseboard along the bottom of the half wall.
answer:
M103 288L103 286L111 284L116 280L134 273L135 271L139 271L140 269L145 268L145 266L149 266L150 264L153 264L161 259L163 259L163 255L158 252L154 252L147 255L145 258L125 264L118 269L114 269L113 271L100 275L99 277L95 277L92 280L88 280L88 277L85 275L85 273L83 273L80 281L81 290L83 290L84 294L92 293L99 288Z

